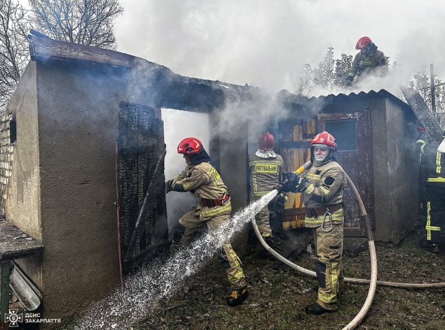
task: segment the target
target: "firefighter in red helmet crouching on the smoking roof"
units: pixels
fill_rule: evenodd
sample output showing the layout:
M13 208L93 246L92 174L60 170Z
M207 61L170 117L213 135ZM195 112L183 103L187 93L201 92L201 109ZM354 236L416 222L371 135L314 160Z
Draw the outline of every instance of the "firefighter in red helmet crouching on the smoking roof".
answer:
M351 86L354 78L357 80L365 74L377 74L384 76L388 73L388 62L383 52L377 50L377 46L367 36L358 39L355 49L360 50L355 55L352 67L346 77L346 85Z

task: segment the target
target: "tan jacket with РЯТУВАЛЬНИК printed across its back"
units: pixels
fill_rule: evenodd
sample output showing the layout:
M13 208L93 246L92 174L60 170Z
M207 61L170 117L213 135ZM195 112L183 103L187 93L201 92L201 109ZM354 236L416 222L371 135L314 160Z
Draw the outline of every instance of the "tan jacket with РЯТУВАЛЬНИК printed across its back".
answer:
M261 197L271 192L281 181L284 162L280 155L262 158L249 156L250 197Z

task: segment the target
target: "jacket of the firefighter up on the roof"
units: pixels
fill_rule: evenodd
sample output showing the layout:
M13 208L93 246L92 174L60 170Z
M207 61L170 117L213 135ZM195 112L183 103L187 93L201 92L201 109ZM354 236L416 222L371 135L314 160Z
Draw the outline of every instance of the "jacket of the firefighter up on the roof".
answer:
M383 52L376 48L375 52L369 56L365 56L362 52L356 54L348 76L354 78L356 75L361 76L368 73L376 73L382 76L387 72L386 57Z

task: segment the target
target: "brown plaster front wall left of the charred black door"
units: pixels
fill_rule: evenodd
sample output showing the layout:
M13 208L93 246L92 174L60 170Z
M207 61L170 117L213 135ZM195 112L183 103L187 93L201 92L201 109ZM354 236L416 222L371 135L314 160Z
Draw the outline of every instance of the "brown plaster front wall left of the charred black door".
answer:
M43 301L47 318L85 309L119 282L118 74L37 63Z

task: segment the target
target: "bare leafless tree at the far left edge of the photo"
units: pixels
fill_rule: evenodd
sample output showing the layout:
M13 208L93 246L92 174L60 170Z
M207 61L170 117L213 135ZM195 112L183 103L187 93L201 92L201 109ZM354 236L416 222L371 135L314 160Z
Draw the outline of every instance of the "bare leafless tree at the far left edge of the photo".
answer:
M6 108L28 63L27 32L21 5L13 0L0 0L0 112Z

